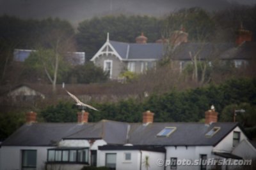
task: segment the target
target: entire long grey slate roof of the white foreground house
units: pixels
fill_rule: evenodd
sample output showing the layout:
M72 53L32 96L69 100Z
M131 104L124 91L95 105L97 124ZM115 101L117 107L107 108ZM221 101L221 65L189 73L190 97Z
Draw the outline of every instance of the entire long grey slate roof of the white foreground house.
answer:
M237 123L124 123L102 120L95 123L25 124L7 138L2 146L55 146L61 139L104 139L108 144L124 145L210 145L218 144L237 127ZM164 127L177 129L169 137L156 135ZM205 134L212 127L221 127L211 138Z

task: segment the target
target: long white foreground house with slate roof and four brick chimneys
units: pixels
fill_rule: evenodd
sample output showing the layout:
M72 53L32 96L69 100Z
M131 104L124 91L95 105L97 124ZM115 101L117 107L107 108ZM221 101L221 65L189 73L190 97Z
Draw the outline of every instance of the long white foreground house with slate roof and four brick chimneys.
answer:
M204 123L154 122L150 111L143 113L141 123L90 123L88 116L82 111L77 123L37 123L36 113L27 113L27 123L2 143L0 169L226 169L227 164L191 162L234 162L256 155L243 128L236 122L218 122L214 109L205 112ZM186 165L180 164L184 159Z

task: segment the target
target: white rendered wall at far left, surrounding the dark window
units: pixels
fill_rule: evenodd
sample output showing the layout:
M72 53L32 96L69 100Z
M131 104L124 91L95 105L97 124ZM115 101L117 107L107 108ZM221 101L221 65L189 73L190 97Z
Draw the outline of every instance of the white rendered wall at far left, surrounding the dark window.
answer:
M41 170L45 167L47 160L47 149L44 146L2 146L1 147L1 170L17 170L21 169L22 150L36 150L36 169Z

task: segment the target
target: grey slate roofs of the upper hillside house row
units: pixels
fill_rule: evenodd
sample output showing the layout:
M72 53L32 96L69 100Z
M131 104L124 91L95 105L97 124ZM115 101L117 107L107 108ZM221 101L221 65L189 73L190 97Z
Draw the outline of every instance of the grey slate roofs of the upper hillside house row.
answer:
M164 56L163 43L122 43L109 41L122 59L161 59ZM256 42L244 42L241 46L235 43L181 43L173 52L173 59L191 60L189 55L199 52L200 59L253 59L256 53Z

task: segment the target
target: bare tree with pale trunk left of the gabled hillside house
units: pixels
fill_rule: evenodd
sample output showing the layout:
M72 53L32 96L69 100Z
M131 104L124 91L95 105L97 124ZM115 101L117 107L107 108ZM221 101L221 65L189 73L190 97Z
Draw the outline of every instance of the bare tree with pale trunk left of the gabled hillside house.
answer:
M36 52L31 54L26 60L29 67L42 71L52 84L52 92L56 93L56 83L61 71L65 71L70 66L70 59L74 52L75 43L72 36L68 36L60 30L52 31L44 36L42 42L36 45Z

